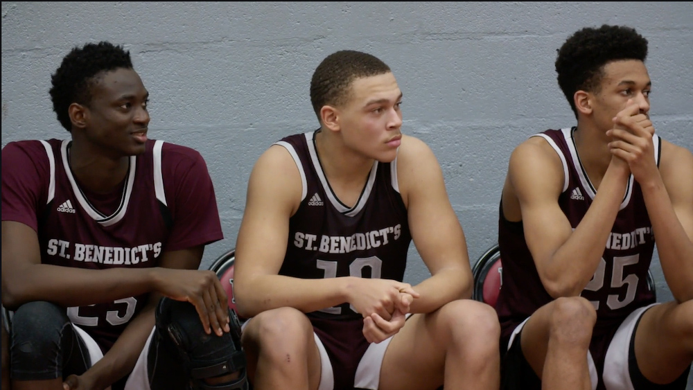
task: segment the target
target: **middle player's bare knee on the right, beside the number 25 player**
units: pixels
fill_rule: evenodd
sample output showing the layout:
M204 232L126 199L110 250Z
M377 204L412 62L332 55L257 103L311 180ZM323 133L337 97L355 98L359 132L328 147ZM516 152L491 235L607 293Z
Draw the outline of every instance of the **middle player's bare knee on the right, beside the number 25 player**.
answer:
M500 342L498 314L486 303L471 299L460 299L447 303L440 309L439 316L450 330L455 344L470 348L487 348L497 352Z

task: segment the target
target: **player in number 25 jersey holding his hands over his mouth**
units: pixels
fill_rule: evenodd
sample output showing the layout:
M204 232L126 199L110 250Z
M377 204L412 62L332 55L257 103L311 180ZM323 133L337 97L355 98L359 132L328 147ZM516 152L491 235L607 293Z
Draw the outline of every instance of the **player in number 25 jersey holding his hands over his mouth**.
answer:
M655 134L646 57L633 28L574 33L556 71L577 126L536 134L510 157L496 304L508 388L685 388L693 155ZM655 242L668 303L647 285Z

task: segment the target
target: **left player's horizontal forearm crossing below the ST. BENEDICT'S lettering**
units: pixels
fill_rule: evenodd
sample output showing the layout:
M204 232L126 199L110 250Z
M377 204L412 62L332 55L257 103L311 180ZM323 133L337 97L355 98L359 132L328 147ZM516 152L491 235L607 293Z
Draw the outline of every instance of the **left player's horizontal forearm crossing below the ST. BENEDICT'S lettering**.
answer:
M3 267L4 268L4 267ZM64 307L104 303L152 290L155 268L81 269L30 264L3 269L2 303L9 309L31 301Z

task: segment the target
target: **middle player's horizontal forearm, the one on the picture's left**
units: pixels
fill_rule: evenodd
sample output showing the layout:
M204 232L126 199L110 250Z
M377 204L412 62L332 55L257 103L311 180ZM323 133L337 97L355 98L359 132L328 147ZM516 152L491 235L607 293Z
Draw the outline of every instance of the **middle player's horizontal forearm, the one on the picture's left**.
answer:
M253 317L265 310L291 307L314 312L347 301L344 293L349 277L302 279L282 275L256 276L234 282L236 308L242 317Z

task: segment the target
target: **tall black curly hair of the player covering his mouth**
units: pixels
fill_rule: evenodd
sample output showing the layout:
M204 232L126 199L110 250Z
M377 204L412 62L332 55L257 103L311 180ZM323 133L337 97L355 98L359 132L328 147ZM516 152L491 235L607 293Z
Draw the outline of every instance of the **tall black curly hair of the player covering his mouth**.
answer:
M577 118L576 91L599 92L604 65L618 60L645 61L647 39L627 26L587 27L571 35L558 50L556 73L565 98Z

